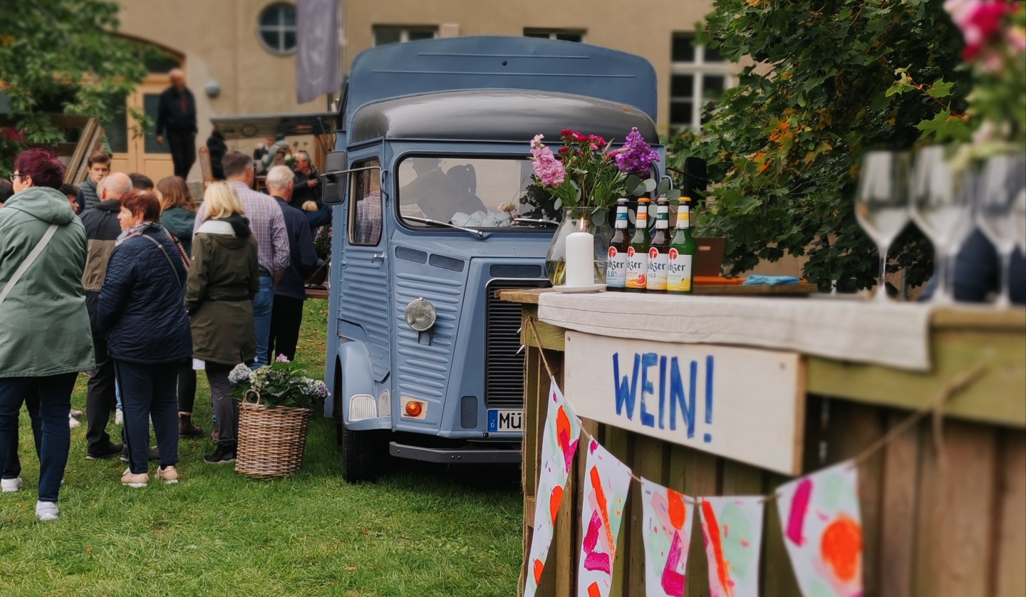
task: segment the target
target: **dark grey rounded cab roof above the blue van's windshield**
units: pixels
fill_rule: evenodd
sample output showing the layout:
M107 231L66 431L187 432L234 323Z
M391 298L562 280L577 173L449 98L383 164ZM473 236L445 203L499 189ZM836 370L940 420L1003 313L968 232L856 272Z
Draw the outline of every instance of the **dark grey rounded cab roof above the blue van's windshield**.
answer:
M637 108L569 93L482 89L371 104L356 114L349 142L371 138L516 141L538 133L557 143L569 128L622 143L631 127L658 143L656 123Z

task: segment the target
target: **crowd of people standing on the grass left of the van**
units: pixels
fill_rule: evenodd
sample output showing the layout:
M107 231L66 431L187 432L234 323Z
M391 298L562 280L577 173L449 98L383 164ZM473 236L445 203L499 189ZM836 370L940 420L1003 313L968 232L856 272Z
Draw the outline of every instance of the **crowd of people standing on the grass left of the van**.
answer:
M287 166L268 169L269 194L259 193L251 156L226 152L218 164L226 180L197 205L177 168L154 185L112 172L103 152L87 165L83 183L65 185L56 156L34 149L0 182L0 484L3 492L24 486L25 404L40 460L40 520L60 514L79 372L89 377L86 459L127 462L124 485L146 486L149 461L158 462L155 482L179 481L180 438L204 437L192 417L198 370L209 382L216 443L203 460L234 462L238 402L227 397L228 373L295 358L304 281L319 266L311 214L322 206L297 204L313 199ZM123 412L122 441L108 433L115 412Z

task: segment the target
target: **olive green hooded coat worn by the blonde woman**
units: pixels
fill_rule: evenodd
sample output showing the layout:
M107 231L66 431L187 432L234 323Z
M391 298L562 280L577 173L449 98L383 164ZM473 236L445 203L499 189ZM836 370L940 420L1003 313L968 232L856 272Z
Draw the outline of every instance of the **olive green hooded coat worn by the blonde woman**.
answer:
M251 361L256 354L252 297L260 290L256 238L235 236L230 225L210 220L196 232L192 249L186 309L193 357L224 365Z

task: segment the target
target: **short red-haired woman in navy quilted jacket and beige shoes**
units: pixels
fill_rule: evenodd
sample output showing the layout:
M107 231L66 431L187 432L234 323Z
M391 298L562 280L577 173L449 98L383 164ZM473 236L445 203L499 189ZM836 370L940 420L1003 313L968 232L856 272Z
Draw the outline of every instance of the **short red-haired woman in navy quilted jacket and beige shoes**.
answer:
M157 435L156 480L176 483L179 474L179 363L192 355L192 333L183 301L187 272L170 237L158 224L160 202L149 191L121 196L121 236L100 291L96 323L109 333L124 409L128 469L121 482L144 487L150 426Z

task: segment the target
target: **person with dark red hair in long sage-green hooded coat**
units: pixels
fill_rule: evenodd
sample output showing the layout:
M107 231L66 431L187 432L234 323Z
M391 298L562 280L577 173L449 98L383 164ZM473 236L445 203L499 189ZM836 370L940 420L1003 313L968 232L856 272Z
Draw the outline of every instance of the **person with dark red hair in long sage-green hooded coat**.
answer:
M0 209L0 463L17 434L22 403L38 400L40 520L60 515L71 393L78 372L95 366L82 287L85 228L58 190L64 170L48 151L23 152L14 160L14 195ZM3 483L5 491L22 484Z

